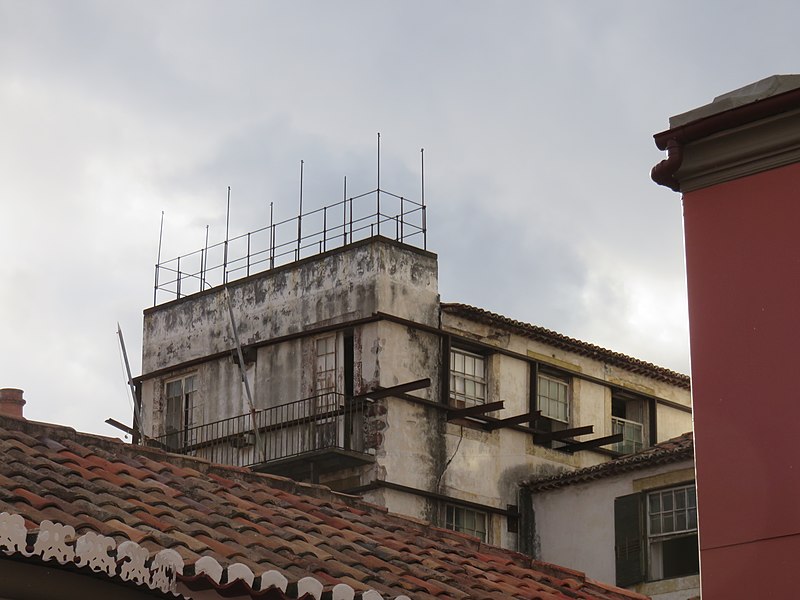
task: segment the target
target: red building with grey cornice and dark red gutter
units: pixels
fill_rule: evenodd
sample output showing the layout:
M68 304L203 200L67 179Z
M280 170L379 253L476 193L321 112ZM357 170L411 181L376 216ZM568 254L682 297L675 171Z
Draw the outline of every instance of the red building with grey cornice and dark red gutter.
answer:
M703 598L786 598L800 555L800 76L670 119L683 195Z

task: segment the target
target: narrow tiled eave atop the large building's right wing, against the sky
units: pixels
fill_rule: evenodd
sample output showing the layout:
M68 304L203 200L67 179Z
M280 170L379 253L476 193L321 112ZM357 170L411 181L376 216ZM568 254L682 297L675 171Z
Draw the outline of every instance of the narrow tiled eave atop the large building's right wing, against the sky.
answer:
M469 306L468 304L443 302L442 310L449 314L486 323L487 325L502 327L530 339L555 346L562 350L574 352L580 356L587 356L595 360L603 361L609 365L630 371L631 373L646 375L657 381L664 381L687 390L689 389L688 375L671 371L665 367L659 367L658 365L627 356L626 354L607 350L606 348L588 342L582 342L581 340L567 337L566 335L551 331L550 329L545 329L538 325L515 321L503 315L498 315L497 313L482 308Z

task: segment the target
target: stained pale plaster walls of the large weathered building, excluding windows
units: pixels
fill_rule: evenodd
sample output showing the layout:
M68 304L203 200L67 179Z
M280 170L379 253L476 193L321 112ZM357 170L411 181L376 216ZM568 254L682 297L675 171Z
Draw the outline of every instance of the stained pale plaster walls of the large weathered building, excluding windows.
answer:
M313 395L316 340L335 336L341 357L345 330L353 339L356 394L427 377L431 386L412 395L440 404L441 339L436 332L424 329L438 328L440 318L445 331L460 337L689 405L688 392L674 386L500 328L447 313L440 315L435 255L382 238L233 282L229 289L241 342L254 350L247 353L247 367L257 408ZM347 326L376 312L407 319L423 328L387 320ZM336 328L337 324L342 327ZM333 326L333 330L315 333L327 326ZM221 289L147 310L144 333L144 370L146 374L155 372L142 381L146 432L163 433L164 384L187 374L197 375L203 422L247 412L238 367L232 359L234 346ZM272 341L283 336L290 337ZM490 353L487 370L487 401L505 402L504 409L492 416L505 418L528 412L528 362ZM344 379L344 364L339 360L339 391L344 391ZM571 425L595 426L594 434L581 439L609 435L610 388L573 378L571 394ZM331 485L349 488L383 480L505 510L507 505L517 504L520 480L609 458L594 451L566 454L536 446L530 434L510 428L487 432L461 427L448 423L441 408L398 398L382 399L370 410L365 436L370 440L368 448L374 463L325 475ZM686 413L666 409L658 416L668 423L667 431L677 430L667 437L691 427ZM431 498L395 489L375 489L367 493L367 498L393 512L434 523L442 520L443 504ZM504 516L490 515L489 529L490 542L516 547L516 535L508 532Z

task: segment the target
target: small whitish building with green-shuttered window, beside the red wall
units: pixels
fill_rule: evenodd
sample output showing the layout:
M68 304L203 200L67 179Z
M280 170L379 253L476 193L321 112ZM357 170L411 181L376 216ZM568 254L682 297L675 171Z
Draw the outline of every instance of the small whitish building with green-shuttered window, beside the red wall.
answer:
M593 467L533 479L523 548L654 600L700 597L694 444L686 433Z

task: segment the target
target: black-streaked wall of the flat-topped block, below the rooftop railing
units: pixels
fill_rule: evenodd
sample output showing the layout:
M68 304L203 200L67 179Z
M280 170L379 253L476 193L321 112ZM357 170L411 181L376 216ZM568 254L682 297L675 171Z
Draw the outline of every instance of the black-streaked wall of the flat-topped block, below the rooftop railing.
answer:
M313 394L314 329L368 318L376 312L438 325L436 256L385 238L371 238L228 287L240 342L257 348L255 361L248 364L256 408ZM309 337L267 343L303 332L309 332ZM342 333L335 335L341 356ZM391 343L387 346L386 336L379 334L376 326L357 327L353 335L356 393L381 380L403 376L379 368L382 353L388 352L387 358L394 361L397 350ZM145 432L163 433L164 384L190 373L198 376L197 398L203 403L204 422L245 413L239 369L232 359L234 348L221 287L146 310L142 355ZM341 363L337 366L340 391L343 368ZM148 376L152 373L156 375Z

